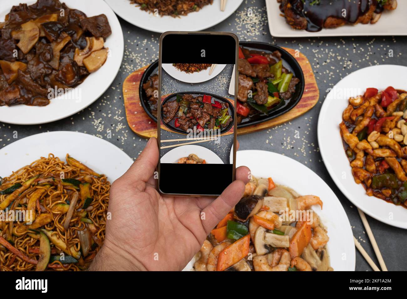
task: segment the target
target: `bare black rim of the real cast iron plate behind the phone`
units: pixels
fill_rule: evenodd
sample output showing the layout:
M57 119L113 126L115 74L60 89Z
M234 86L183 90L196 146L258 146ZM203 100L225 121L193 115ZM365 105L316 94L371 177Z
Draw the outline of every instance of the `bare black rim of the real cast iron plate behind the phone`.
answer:
M298 102L301 100L302 94L304 92L304 74L301 70L300 64L298 64L297 60L286 50L267 43L257 42L257 41L241 41L239 43L240 46L245 48L249 48L249 50L263 50L268 52L274 52L276 50L280 51L281 58L283 59L283 65L287 68L290 72L293 72L294 76L300 79L300 83L295 86L295 93L289 100L284 100L281 104L277 107L274 107L269 111L269 114L262 114L258 113L252 117L247 117L242 120L240 124L237 125L238 128L243 128L247 126L251 126L252 124L259 124L261 122L265 122L267 120L271 120L280 116L295 107ZM143 76L141 77L139 93L140 93L140 102L148 116L150 116L155 122L157 122L157 118L153 116L151 113L151 108L149 104L149 100L144 92L142 85L147 82L149 77L158 72L158 60L151 63L151 65L147 68L144 72Z

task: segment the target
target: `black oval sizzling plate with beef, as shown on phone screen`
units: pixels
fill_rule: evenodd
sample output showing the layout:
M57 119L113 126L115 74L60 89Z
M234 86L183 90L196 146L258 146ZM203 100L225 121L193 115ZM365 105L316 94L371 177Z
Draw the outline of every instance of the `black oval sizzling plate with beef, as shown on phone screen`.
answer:
M161 120L175 132L188 129L220 129L223 134L233 127L234 108L226 99L206 92L178 92L166 97L161 105Z

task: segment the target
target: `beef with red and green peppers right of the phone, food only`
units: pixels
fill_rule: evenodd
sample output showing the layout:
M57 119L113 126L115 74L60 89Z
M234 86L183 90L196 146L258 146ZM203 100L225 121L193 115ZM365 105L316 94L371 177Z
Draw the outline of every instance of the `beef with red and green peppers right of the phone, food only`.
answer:
M237 121L258 113L268 114L290 100L300 79L284 68L279 51L239 47Z

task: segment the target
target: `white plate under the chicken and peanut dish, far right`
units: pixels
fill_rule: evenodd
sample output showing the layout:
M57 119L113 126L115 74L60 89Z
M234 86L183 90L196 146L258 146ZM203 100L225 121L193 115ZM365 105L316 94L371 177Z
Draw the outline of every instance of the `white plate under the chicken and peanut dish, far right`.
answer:
M348 98L363 95L368 87L377 88L379 91L388 86L405 90L405 74L405 66L374 65L357 70L339 81L326 96L319 112L318 143L330 176L354 205L383 223L407 229L407 209L368 196L363 186L355 183L339 131L342 112L349 104Z

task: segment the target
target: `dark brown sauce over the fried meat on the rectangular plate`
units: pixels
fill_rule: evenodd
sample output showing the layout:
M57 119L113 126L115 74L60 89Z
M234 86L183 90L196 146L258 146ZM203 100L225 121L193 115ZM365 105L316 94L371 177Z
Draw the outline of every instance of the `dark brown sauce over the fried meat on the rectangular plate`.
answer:
M319 4L313 0L289 0L289 2L295 14L307 20L306 31L311 32L320 31L328 17L337 17L353 24L369 11L371 5L376 6L376 13L383 10L377 0L320 0ZM346 14L343 12L344 9Z

